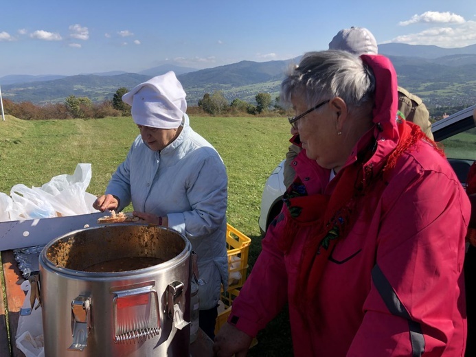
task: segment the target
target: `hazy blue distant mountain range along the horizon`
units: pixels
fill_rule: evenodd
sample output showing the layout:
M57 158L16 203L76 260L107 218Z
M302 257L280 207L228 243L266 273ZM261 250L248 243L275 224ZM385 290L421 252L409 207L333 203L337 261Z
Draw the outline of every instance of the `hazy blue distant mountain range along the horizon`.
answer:
M445 49L436 46L387 43L379 52L388 56L398 73L398 83L417 93L430 106L474 104L476 102L476 45ZM174 71L187 92L189 105L196 105L205 93L223 91L228 100L253 102L260 92L278 95L289 63L299 58L269 62L241 61L231 65L196 70L162 65L126 73L109 71L78 76L10 75L0 78L2 95L14 102L45 104L64 102L69 95L89 97L93 102L111 100L121 87L135 85L167 71Z

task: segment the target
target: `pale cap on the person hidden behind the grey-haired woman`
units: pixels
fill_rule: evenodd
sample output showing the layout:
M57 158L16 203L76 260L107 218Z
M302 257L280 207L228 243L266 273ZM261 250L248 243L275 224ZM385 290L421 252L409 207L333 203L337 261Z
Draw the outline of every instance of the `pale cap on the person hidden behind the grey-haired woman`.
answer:
M378 54L377 41L365 27L350 27L337 32L329 43L329 49L340 49L351 54Z

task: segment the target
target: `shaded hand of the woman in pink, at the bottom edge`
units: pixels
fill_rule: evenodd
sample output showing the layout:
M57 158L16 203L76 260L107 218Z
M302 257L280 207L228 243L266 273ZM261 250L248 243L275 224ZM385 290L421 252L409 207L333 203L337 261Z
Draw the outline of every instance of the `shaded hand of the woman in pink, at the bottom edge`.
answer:
M213 354L215 357L245 357L252 341L251 336L225 323L215 336Z

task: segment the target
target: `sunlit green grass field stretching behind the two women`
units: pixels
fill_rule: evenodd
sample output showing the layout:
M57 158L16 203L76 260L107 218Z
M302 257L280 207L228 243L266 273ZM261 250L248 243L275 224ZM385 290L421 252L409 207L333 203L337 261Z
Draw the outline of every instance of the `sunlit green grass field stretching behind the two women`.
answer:
M252 266L261 249L262 189L287 151L289 124L276 117L191 117L190 125L212 143L225 162L227 219L251 238ZM87 191L100 195L138 133L131 117L24 121L7 115L0 121L0 192L10 194L18 183L38 187L53 176L73 174L78 163L91 163ZM291 355L284 311L258 335L258 345L249 356Z

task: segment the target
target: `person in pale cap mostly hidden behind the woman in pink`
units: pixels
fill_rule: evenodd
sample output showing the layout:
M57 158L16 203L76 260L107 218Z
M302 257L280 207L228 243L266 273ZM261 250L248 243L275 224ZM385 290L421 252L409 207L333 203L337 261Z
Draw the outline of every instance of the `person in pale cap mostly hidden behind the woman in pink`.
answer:
M360 56L361 54L377 54L377 41L369 30L365 27L350 27L337 32L329 43L329 49L339 49L348 51L351 54ZM427 107L423 104L420 97L409 93L406 89L398 87L398 116L401 119L413 122L422 128L423 133L433 140L431 133L430 115ZM286 153L286 162L284 163L284 185L288 187L294 179L293 159L301 150L299 138L295 131L291 129L291 146Z

